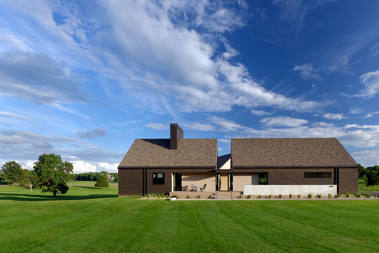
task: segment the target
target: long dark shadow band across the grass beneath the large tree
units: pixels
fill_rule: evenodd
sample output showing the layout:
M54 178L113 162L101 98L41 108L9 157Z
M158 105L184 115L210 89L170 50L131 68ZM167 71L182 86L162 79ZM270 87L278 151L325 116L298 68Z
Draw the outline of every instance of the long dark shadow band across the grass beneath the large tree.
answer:
M18 193L0 193L0 200L16 200L16 201L50 201L50 200L89 200L94 198L115 198L117 194L91 194L85 196L70 196L58 194L56 198L46 195L18 194Z

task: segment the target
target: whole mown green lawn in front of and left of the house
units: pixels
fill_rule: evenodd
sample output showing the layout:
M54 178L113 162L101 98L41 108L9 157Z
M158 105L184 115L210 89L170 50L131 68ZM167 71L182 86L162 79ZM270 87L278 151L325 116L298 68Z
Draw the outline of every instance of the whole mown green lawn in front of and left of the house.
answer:
M0 252L378 252L379 200L167 201L0 188ZM76 200L75 200L76 199Z

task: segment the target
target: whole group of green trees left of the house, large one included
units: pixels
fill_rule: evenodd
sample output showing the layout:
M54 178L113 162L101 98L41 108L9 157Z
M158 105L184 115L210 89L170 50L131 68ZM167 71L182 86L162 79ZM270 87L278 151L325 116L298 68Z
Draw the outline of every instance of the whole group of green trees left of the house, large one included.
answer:
M16 161L5 162L0 170L0 180L5 180L8 184L20 184L22 187L41 189L42 193L52 192L56 197L57 193L65 194L69 190L67 182L79 176L88 177L91 173L73 174L74 165L70 162L63 162L60 155L42 154L34 163L33 170L26 170ZM93 173L90 178L96 179L96 187L109 187L107 172ZM114 174L114 173L112 173ZM115 176L116 177L116 176ZM92 181L91 179L91 181ZM118 174L117 174L118 179ZM87 180L87 179L86 179Z

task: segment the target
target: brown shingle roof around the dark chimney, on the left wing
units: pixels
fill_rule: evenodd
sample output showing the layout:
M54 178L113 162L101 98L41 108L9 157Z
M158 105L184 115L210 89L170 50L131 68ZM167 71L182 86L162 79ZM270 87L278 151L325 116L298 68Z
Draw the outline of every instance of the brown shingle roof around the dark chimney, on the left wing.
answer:
M170 149L170 139L136 139L119 167L216 167L217 139L180 139Z

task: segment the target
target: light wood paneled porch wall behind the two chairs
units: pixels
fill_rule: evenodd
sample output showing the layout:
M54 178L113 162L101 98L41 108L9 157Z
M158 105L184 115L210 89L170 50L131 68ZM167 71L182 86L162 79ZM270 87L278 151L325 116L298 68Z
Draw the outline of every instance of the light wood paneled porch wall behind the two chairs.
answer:
M191 184L197 185L197 191L200 192L200 186L207 184L205 190L208 192L216 190L216 173L182 173L182 190L191 191Z

